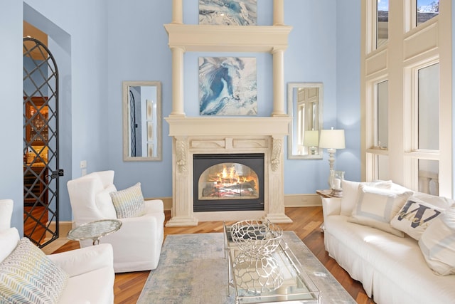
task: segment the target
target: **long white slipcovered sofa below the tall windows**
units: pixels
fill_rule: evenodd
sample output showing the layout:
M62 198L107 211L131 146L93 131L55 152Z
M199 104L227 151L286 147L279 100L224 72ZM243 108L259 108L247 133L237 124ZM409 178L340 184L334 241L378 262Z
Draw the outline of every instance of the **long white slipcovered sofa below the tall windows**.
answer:
M352 222L362 200L360 196L364 195L363 192L360 194L360 184L362 189L367 189L366 183L343 182L343 198L322 200L324 244L329 256L363 284L375 303L455 303L455 275L435 274L422 254L419 241L407 234L401 237L375 228L368 222ZM392 190L407 189L392 184ZM414 196L430 201L439 199L412 192L411 197ZM409 199L408 196L407 201ZM440 204L441 208L452 206L453 213L453 203L441 198L434 204Z

